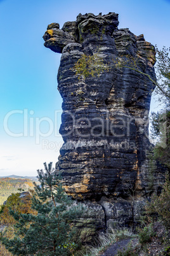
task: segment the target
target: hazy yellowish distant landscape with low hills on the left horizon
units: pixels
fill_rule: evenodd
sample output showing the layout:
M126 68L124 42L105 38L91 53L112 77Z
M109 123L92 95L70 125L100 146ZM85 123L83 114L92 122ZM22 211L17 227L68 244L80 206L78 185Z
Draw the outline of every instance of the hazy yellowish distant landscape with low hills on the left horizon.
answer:
M11 176L14 176L11 178ZM19 177L19 178L16 178ZM36 177L31 177L36 178ZM20 176L10 175L6 177L0 177L0 205L6 201L11 193L18 192L18 188L22 188L24 191L28 191L29 188L34 188L33 179L20 178Z

